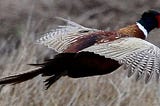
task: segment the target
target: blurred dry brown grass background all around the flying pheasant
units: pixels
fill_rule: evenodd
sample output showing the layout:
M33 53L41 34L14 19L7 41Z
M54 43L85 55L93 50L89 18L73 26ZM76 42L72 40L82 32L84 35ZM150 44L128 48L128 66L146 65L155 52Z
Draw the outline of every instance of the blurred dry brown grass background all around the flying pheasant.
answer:
M64 24L59 16L86 27L115 30L134 24L160 0L0 0L0 77L29 70L27 64L53 58L53 50L35 44L45 32ZM160 47L160 31L148 41ZM127 78L127 70L103 76L63 77L44 89L38 76L18 85L0 86L0 106L160 106L160 86Z

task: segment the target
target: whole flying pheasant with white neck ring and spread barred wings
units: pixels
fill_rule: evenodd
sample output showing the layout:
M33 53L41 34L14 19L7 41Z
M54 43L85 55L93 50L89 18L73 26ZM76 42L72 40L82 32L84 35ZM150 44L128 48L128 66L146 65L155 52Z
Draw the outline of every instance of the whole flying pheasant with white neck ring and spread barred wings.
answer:
M136 74L136 80L144 78L148 83L160 76L160 48L147 42L148 33L160 28L160 13L149 10L133 25L114 31L86 28L75 22L43 35L37 42L55 50L58 54L29 72L0 79L0 84L17 84L41 74L48 77L48 89L62 76L71 78L109 74L124 66L128 77Z

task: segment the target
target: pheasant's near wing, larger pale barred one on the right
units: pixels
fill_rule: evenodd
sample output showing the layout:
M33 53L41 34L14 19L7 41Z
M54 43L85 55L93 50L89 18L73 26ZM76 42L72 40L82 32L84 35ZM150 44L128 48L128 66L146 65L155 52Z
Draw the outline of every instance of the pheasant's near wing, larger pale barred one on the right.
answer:
M136 72L137 80L145 77L147 83L154 73L159 79L160 49L145 40L133 37L120 38L93 45L82 51L94 52L106 58L117 60L129 69L129 77Z

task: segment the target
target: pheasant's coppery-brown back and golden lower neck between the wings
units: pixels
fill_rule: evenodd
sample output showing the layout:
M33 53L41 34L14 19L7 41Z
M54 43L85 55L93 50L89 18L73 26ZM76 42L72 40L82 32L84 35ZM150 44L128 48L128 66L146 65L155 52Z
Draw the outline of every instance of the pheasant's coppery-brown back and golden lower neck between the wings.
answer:
M94 44L106 43L123 37L137 37L145 39L144 33L136 24L133 24L117 31L96 31L89 33L88 35L78 37L78 39L68 46L64 52L78 52Z

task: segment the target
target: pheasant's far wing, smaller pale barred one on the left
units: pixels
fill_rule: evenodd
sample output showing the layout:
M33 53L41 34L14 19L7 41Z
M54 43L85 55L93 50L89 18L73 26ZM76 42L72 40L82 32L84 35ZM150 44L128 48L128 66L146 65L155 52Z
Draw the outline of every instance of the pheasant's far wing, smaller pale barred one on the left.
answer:
M98 31L97 29L83 27L67 19L60 17L59 19L67 22L67 25L58 26L59 28L42 35L43 37L37 40L39 44L54 49L59 53L66 50L72 43L76 42L79 37Z

